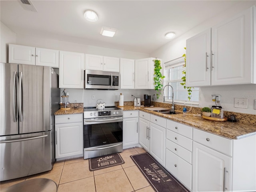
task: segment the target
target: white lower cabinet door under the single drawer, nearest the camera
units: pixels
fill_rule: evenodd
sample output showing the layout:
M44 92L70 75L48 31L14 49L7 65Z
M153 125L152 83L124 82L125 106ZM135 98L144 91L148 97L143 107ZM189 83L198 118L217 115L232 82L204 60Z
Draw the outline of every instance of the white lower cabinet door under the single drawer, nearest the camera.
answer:
M193 191L231 191L231 167L231 157L193 142Z

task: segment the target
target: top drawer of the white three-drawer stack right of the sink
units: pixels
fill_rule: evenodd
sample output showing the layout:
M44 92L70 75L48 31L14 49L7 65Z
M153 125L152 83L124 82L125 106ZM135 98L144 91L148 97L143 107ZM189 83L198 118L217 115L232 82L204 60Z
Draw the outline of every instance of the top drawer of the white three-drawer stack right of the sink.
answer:
M171 131L174 131L180 135L188 137L189 139L193 139L193 134L192 134L193 128L188 125L184 125L181 123L177 123L175 121L167 120L166 129L170 129Z

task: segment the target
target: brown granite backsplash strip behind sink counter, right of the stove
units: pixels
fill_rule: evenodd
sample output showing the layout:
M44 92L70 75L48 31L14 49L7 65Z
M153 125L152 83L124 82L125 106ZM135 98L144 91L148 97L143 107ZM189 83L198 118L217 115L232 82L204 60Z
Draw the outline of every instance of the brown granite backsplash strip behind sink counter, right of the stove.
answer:
M151 104L154 105L154 107L162 107L162 108L167 108L171 109L172 104L169 103L161 103L161 102L155 102L151 101ZM133 101L124 101L124 106L132 106L134 105ZM141 101L141 105L144 105L144 101ZM118 102L115 102L115 106L118 106ZM187 111L189 111L190 107L187 106ZM192 107L191 111L189 113L193 114L202 114L200 107ZM183 111L183 105L175 105L175 110L176 111ZM236 113L232 111L224 111L224 115L226 117L230 117L230 115L236 115L236 119L238 119L242 123L246 124L252 124L256 125L256 115L252 114L246 114L246 113Z

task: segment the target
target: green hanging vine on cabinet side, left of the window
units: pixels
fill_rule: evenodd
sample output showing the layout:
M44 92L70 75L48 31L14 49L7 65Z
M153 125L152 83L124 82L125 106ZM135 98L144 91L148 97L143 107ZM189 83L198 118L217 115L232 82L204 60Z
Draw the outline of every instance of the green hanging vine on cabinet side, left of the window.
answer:
M154 61L154 85L155 85L155 90L156 90L156 97L157 99L161 95L161 90L163 88L162 85L162 79L164 79L165 76L162 75L161 73L161 61L158 60L157 58Z

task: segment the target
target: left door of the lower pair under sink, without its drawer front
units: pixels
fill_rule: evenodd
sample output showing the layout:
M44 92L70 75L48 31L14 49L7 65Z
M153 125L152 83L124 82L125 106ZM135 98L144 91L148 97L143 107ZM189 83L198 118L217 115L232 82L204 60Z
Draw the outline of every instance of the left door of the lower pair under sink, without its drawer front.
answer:
M149 121L140 118L139 119L139 143L143 146L145 150L149 152Z

